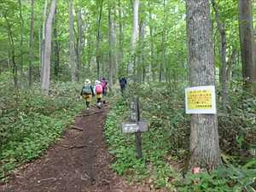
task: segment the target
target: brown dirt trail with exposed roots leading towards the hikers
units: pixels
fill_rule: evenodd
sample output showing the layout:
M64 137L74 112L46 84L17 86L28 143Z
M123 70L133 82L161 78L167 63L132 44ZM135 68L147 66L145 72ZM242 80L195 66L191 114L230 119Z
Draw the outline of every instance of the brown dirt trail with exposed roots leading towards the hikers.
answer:
M102 130L108 113L92 108L81 113L61 141L29 163L2 186L1 192L146 192L113 173Z

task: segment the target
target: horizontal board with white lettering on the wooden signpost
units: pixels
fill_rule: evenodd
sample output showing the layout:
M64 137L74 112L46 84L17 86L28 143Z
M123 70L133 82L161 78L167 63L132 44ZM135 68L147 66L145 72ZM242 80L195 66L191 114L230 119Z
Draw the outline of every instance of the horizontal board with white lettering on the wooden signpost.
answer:
M122 123L123 133L133 133L137 131L148 131L148 123L146 121Z

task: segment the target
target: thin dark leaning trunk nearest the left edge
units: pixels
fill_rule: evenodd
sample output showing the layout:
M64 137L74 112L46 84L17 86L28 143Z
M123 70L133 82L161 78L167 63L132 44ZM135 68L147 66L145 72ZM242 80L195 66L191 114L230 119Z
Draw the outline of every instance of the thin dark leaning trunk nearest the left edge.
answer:
M13 78L14 78L14 85L15 90L18 90L18 67L15 62L15 42L14 42L14 35L12 32L12 27L10 26L9 20L7 15L3 15L6 21L7 31L8 31L8 38L9 38L9 55L11 57L11 62L13 65Z

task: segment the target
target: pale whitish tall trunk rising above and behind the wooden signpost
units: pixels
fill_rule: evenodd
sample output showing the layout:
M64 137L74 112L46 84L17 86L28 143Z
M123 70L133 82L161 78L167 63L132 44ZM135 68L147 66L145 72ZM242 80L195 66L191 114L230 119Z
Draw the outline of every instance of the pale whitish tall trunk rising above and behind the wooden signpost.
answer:
M128 63L128 76L131 77L135 73L136 67L136 45L138 36L138 13L139 0L133 0L133 28L131 37L131 61ZM134 77L135 78L135 77Z

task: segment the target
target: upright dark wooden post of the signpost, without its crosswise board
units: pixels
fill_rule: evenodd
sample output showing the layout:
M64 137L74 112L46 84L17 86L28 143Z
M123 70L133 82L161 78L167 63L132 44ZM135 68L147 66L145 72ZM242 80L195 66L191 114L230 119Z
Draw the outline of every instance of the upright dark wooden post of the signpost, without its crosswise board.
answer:
M136 97L136 109L137 109L137 123L140 121L140 106L139 106L139 97ZM143 157L142 150L142 132L138 130L136 132L136 147L137 147L137 159Z

